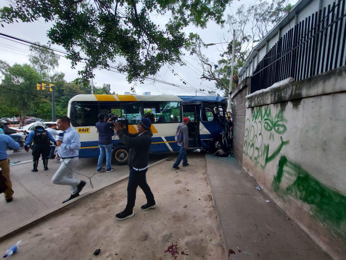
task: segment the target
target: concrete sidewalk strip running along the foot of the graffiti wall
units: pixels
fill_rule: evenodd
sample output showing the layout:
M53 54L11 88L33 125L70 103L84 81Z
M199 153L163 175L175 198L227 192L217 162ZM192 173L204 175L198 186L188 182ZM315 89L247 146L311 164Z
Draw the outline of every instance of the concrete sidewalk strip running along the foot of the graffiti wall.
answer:
M206 155L226 259L330 259L233 157Z

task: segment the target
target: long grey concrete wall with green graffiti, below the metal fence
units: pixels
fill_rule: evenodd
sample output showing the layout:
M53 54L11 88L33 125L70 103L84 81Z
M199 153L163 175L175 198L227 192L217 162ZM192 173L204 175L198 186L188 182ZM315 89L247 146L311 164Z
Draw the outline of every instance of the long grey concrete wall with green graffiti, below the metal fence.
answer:
M345 259L346 66L251 97L245 110L243 168L325 251Z

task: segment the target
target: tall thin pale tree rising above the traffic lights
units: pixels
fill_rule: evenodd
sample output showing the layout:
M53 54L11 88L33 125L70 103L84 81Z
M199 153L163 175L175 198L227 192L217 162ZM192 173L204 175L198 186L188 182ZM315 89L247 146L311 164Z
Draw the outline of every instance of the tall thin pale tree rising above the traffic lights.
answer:
M47 79L51 71L59 66L60 57L46 47L33 44L29 47L29 51L31 52L29 54L29 61L40 73L40 80Z

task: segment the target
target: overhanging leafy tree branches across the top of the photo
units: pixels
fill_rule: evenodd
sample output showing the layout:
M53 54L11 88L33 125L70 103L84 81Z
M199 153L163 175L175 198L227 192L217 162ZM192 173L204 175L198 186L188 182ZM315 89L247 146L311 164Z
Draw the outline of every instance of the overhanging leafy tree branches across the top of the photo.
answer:
M0 21L54 22L47 36L65 48L73 67L85 62L79 73L86 84L93 69L110 69L111 62L128 81L143 81L165 64L183 64L184 28L204 28L209 21L223 24L230 1L22 0L0 9ZM157 19L162 16L167 17L160 19L163 25Z

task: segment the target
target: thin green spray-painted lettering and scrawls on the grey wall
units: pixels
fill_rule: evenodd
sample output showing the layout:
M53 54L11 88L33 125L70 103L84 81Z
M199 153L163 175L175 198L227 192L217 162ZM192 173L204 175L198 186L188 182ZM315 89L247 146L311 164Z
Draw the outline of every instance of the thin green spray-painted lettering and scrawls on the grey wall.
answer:
M255 107L251 120L246 119L243 153L256 166L264 168L280 154L282 147L289 143L283 140L283 134L287 131L286 121L280 109L272 116L270 106ZM268 142L263 138L264 132L270 133ZM279 137L280 144L275 145L274 141Z

